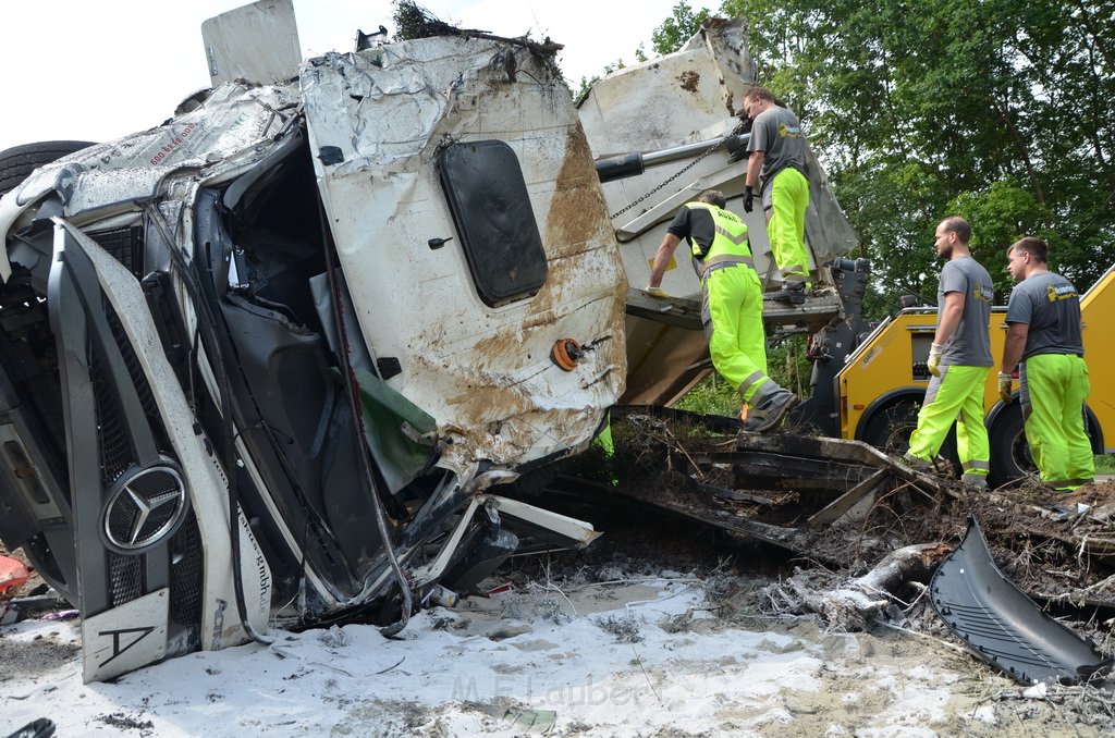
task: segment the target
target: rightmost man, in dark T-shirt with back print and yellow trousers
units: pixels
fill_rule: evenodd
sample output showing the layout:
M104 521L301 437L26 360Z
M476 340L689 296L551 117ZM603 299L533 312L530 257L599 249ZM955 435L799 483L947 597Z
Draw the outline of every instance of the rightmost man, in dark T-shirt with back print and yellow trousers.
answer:
M1095 476L1084 427L1092 385L1080 337L1080 295L1072 282L1049 271L1048 262L1049 246L1041 239L1025 237L1007 250L1007 271L1018 284L1007 302L999 394L1011 400L1018 365L1030 455L1043 483L1069 491Z

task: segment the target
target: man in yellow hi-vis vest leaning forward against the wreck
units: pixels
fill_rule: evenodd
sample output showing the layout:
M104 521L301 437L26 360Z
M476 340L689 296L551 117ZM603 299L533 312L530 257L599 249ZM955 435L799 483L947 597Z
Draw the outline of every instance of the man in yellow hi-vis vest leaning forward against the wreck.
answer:
M701 280L701 322L712 366L749 405L744 429L775 430L797 405L797 396L770 379L763 332L763 288L752 260L747 225L725 210L724 193L709 190L681 206L655 254L647 292L660 284L673 251L688 239Z

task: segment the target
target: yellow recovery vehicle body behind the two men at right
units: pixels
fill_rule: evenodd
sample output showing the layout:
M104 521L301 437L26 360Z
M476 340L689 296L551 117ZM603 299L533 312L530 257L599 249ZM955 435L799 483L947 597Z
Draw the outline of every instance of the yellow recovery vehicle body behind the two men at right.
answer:
M991 436L992 480L1002 483L1026 470L1029 450L1021 435L1017 402L999 399L998 366L1007 332L1006 307L991 312L991 355L983 409ZM1092 394L1088 433L1097 454L1115 451L1115 266L1080 298L1084 358ZM925 360L937 329L935 308L910 308L875 328L837 373L840 435L874 446L904 450L917 427L929 370ZM948 450L948 449L946 449ZM997 458L998 457L998 458Z

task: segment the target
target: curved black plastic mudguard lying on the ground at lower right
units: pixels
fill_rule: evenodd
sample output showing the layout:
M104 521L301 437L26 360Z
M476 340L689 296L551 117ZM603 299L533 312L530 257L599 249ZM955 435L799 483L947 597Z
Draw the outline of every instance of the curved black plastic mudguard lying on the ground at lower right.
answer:
M1018 682L1086 682L1111 670L1089 641L1054 620L995 565L976 516L930 582L933 609L971 651Z

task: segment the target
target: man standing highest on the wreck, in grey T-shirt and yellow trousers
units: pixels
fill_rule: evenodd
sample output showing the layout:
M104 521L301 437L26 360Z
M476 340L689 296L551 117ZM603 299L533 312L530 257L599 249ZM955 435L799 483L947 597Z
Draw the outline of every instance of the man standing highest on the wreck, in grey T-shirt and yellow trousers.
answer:
M765 87L752 87L744 97L744 114L753 120L744 210L752 212L756 183L767 219L770 251L782 273L783 289L775 300L805 302L809 258L805 252L805 208L809 182L805 175L805 136L797 116L780 107Z

